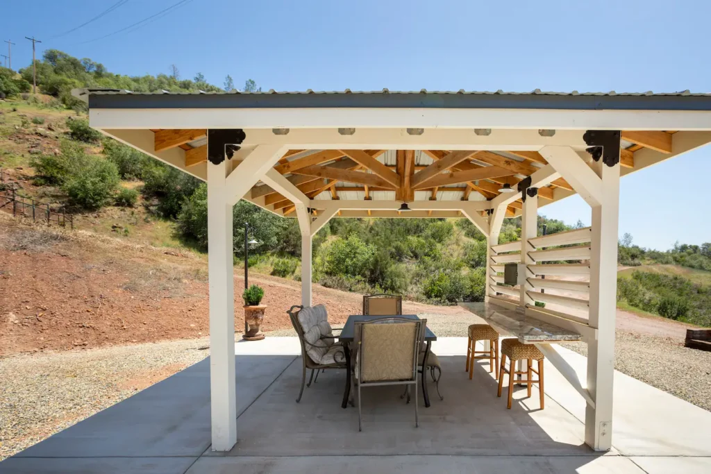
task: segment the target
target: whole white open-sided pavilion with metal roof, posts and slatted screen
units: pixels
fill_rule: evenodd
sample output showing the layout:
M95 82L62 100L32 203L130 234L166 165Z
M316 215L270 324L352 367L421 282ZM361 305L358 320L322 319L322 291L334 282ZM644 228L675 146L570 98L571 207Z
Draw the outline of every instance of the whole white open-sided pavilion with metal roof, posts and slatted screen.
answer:
M311 239L332 217L471 220L489 241L487 300L587 342L587 384L570 382L587 400L586 443L611 447L620 178L709 143L710 95L74 94L88 102L95 129L208 183L213 451L230 450L237 436L232 205L240 199L299 220L305 306ZM592 226L539 237L538 208L575 193L592 208ZM646 196L637 198L652 215ZM520 242L499 245L504 217L519 215ZM560 245L574 247L545 250ZM560 261L583 263L545 264ZM525 269L518 289L501 285L508 262Z

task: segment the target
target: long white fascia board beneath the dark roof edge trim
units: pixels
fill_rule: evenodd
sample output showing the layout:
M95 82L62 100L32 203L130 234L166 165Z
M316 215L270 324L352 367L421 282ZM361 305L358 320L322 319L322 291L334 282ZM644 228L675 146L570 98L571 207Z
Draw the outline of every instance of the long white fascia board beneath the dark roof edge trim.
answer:
M679 110L264 108L100 109L95 128L453 128L555 130L711 130L711 112Z

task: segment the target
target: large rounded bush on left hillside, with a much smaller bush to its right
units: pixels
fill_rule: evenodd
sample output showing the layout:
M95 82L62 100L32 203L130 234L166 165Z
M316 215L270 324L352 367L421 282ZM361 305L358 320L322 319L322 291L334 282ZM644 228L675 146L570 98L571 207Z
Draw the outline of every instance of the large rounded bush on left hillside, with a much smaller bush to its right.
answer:
M106 205L119 185L116 165L100 156L85 155L62 185L70 204L95 210Z

